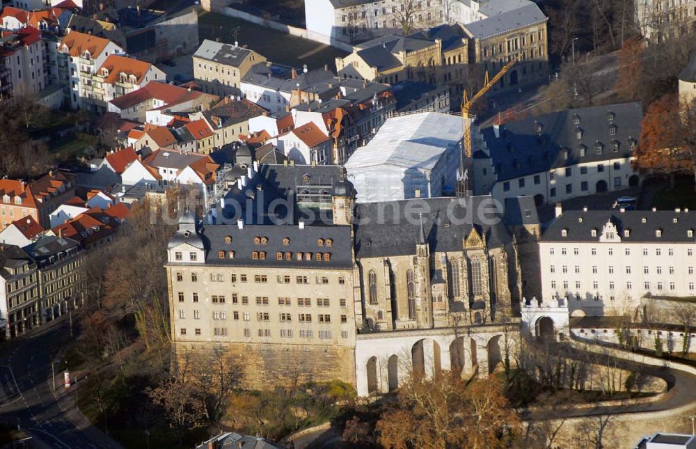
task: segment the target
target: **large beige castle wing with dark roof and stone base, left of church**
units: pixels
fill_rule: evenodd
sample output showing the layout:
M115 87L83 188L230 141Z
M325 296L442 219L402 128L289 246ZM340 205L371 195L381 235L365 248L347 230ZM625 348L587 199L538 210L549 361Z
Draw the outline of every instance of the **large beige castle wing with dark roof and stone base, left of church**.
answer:
M168 245L171 338L182 359L215 347L240 357L244 384L355 384L349 226L198 225Z

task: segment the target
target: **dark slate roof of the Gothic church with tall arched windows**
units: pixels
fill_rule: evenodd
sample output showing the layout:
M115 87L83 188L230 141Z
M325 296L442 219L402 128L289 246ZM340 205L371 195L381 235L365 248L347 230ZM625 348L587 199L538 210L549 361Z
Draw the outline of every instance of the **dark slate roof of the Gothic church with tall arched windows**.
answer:
M416 253L416 242L420 232L419 211L424 208L422 223L430 251L461 251L472 226L486 238L487 246L496 247L511 241L503 223L503 211L487 206L487 217L494 224L482 223L482 218L475 213L484 200L491 196L473 196L472 207L466 207L461 198L420 198L384 203L360 203L356 206L355 251L356 258L386 257ZM484 203L487 204L487 203ZM490 209L489 209L490 207ZM453 223L448 216L448 208L453 212L454 220L465 223ZM471 219L468 219L470 211Z

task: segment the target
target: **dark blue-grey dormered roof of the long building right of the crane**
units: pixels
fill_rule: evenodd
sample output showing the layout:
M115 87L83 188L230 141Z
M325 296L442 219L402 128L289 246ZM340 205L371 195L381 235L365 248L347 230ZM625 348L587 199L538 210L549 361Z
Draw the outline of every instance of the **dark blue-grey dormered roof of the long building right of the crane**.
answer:
M614 120L609 120L609 113ZM580 124L576 125L576 117ZM643 113L640 103L610 104L580 109L567 109L528 117L500 125L500 136L493 127L482 130L489 149L498 181L519 178L548 171L551 168L571 166L586 162L630 157L631 140L636 144L640 137ZM541 133L537 133L538 127ZM610 127L616 134L610 134ZM578 129L582 138L577 139ZM613 150L613 143L619 150ZM597 154L596 145L603 149ZM582 146L585 146L585 156ZM567 159L566 151L569 152ZM480 157L480 155L477 155Z

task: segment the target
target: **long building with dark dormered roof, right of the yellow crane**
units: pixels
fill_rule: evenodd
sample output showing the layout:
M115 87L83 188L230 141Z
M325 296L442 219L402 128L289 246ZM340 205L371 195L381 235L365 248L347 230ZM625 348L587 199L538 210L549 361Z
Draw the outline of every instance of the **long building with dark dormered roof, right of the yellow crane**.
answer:
M534 196L537 205L635 187L640 103L568 109L482 130L475 145L476 194Z

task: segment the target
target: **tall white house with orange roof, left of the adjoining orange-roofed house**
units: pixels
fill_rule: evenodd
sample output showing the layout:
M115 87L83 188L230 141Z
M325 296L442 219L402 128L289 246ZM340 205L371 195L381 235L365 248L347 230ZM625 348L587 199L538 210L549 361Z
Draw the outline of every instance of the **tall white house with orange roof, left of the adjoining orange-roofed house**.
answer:
M93 86L93 77L113 54L124 51L111 40L78 31L70 31L58 43L58 79L68 86L72 109L105 111L104 94L99 90L95 93L94 88L101 86ZM104 77L104 72L101 75Z

